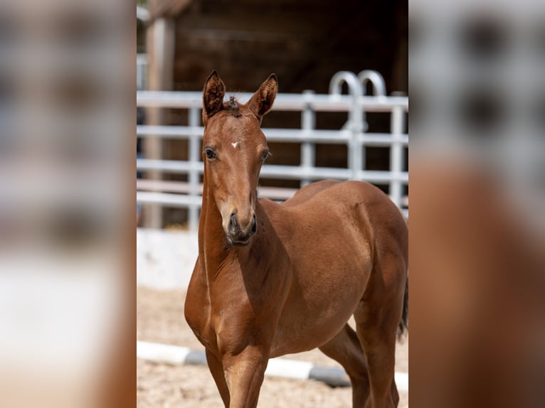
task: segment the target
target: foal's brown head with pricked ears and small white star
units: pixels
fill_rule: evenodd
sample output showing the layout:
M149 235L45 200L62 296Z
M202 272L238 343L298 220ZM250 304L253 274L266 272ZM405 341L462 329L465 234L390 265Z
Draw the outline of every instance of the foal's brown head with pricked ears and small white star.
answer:
M269 156L260 124L277 89L272 74L246 104L239 104L234 97L223 102L226 88L215 70L204 85L204 174L231 245L248 245L258 228L256 190L261 166Z

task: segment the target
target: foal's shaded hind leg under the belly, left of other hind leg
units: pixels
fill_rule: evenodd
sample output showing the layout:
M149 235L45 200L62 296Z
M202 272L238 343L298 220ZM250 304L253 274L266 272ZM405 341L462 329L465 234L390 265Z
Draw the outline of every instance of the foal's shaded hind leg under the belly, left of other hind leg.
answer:
M356 332L346 323L334 338L319 347L336 360L348 374L352 385L352 407L364 407L369 399L367 360Z

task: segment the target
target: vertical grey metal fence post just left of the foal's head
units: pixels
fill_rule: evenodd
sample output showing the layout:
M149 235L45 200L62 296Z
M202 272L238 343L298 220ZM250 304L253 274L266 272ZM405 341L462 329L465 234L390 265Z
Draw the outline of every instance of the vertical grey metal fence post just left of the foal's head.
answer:
M189 170L189 195L191 197L199 196L199 150L201 146L200 129L199 129L199 105L191 104L189 108L188 123L191 127L189 135L189 162L191 169ZM189 230L196 231L199 229L199 206L189 205Z

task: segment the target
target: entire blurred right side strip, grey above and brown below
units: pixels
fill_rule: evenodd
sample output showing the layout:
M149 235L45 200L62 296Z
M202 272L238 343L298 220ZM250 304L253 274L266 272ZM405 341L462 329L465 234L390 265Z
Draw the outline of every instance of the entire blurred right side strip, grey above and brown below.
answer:
M418 407L543 405L544 11L409 3Z

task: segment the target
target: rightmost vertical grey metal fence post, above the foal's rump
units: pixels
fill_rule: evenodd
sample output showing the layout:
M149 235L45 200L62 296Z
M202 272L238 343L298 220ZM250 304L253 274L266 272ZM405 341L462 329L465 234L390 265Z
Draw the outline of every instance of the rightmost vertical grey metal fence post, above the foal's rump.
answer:
M403 107L393 107L391 114L391 133L393 140L390 147L390 172L392 176L390 181L390 198L399 208L401 208L401 196L403 194L401 184L401 172L403 171L403 144L401 144L400 135L403 134L404 129L405 112L403 112Z

